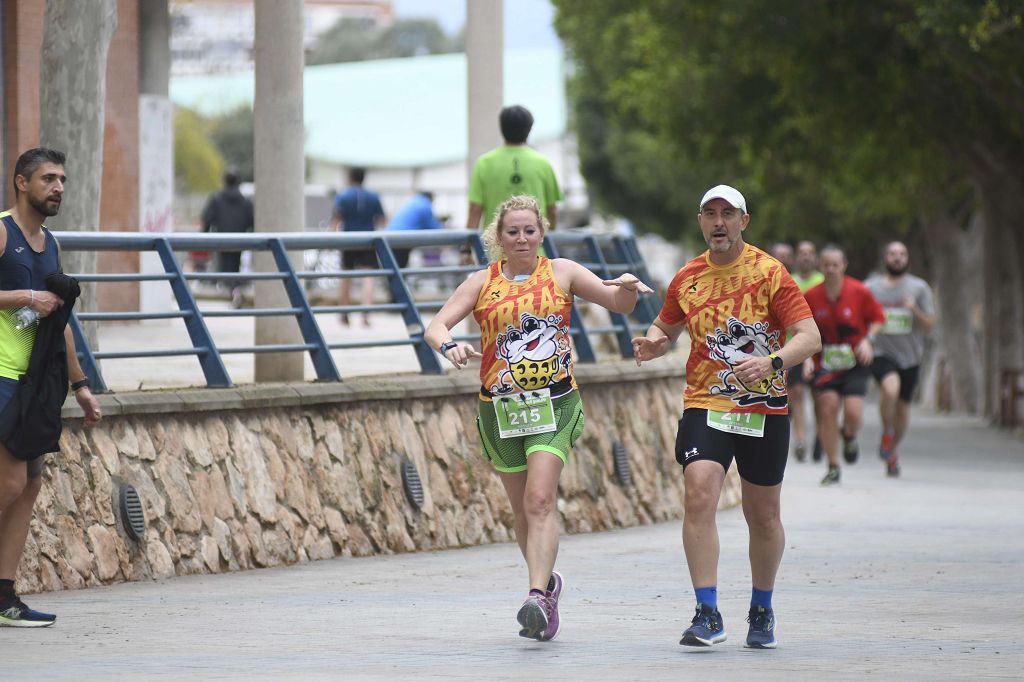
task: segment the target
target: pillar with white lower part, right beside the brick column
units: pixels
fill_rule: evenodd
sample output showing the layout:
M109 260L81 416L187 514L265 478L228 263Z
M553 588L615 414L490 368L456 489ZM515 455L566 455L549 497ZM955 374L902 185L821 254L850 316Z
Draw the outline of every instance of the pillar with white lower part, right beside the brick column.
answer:
M138 0L138 218L139 230L174 231L174 115L168 86L171 77L171 31L167 0ZM160 256L139 254L139 271L163 272ZM166 282L138 283L139 309L174 307ZM167 327L169 321L147 321Z

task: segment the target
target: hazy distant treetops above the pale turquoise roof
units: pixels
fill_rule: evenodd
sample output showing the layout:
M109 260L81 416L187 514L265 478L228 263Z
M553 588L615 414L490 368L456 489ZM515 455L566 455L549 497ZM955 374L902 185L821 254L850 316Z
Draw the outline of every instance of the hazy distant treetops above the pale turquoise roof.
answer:
M450 38L434 19L397 19L377 28L369 19L342 18L317 39L306 62L389 59L462 49L462 36Z

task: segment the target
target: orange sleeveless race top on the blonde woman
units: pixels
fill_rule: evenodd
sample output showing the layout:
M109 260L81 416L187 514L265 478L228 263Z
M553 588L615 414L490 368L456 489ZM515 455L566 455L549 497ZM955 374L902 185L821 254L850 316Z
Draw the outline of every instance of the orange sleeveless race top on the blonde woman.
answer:
M481 397L549 387L558 397L573 390L571 316L572 296L555 282L550 260L538 258L525 282L510 281L500 262L492 263L473 307L483 355Z

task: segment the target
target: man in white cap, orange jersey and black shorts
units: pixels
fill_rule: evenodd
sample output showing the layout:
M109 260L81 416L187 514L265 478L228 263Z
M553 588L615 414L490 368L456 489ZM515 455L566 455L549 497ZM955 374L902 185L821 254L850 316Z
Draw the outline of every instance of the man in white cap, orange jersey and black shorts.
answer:
M664 355L684 331L690 335L685 411L676 434L686 481L683 550L697 602L679 642L685 646L726 639L715 516L733 460L751 536L746 646L776 643L771 599L785 549L781 492L790 449L784 370L817 350L819 338L782 264L743 243L750 218L733 187L708 190L697 213L708 251L676 273L657 319L646 336L633 339L639 364Z

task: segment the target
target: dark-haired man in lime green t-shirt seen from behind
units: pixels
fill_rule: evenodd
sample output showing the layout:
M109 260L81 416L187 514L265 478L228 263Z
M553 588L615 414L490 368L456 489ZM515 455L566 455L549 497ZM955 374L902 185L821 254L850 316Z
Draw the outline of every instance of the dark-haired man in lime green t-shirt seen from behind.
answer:
M555 171L541 153L526 145L526 138L534 127L534 115L525 106L506 106L498 118L505 144L481 155L473 166L469 181L470 229L489 223L498 207L510 197L528 195L537 200L541 211L554 229L555 204L561 201L562 190L555 178Z

